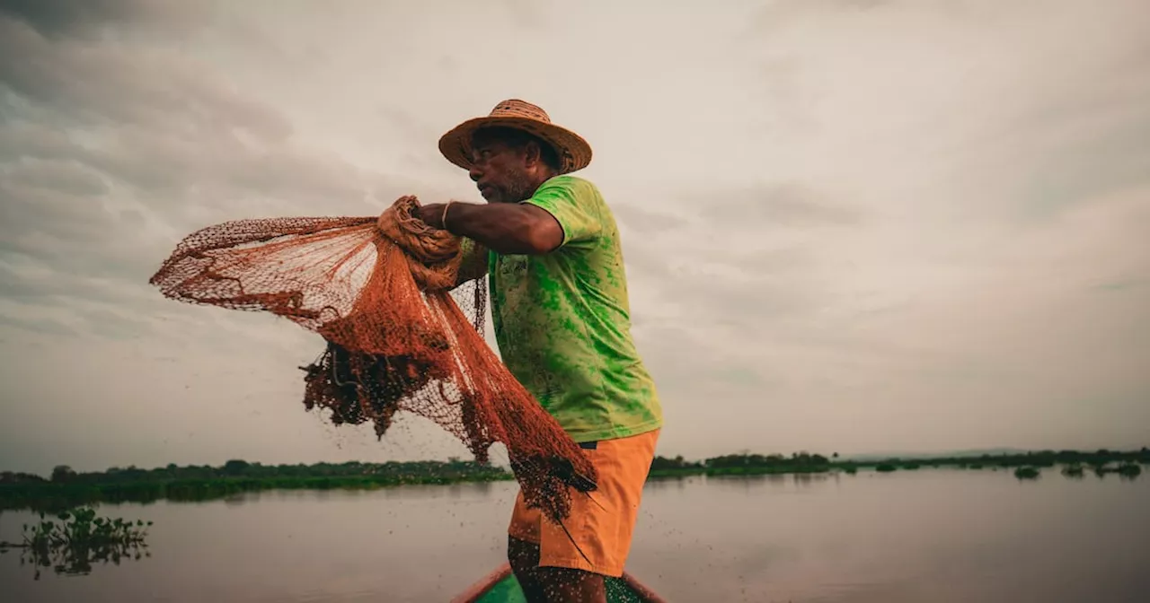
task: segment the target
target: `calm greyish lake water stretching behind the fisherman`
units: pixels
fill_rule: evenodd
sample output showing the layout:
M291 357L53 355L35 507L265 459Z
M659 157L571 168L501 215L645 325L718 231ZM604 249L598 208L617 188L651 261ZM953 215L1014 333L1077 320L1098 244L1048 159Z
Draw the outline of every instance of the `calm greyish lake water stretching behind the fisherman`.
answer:
M105 507L155 521L151 558L33 581L8 552L0 598L447 601L503 561L514 494L512 482ZM30 518L0 516L0 540ZM1150 479L923 470L654 481L628 570L673 602L1145 602Z

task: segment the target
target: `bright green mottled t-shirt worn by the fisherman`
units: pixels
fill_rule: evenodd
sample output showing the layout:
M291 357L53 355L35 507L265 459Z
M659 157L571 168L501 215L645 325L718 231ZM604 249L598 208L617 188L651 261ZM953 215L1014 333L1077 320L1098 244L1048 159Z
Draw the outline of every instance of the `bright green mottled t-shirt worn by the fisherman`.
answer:
M489 254L504 364L577 442L661 427L654 382L631 340L619 230L598 188L557 176L523 203L554 216L564 242L544 255Z

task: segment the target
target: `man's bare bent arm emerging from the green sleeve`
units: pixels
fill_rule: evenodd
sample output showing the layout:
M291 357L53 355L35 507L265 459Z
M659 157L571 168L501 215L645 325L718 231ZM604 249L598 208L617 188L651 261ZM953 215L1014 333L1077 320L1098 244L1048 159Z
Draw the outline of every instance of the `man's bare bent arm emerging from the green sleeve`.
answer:
M439 222L444 222L439 216ZM545 254L562 242L562 230L546 211L519 203L451 203L446 224L453 234L474 239L498 254Z

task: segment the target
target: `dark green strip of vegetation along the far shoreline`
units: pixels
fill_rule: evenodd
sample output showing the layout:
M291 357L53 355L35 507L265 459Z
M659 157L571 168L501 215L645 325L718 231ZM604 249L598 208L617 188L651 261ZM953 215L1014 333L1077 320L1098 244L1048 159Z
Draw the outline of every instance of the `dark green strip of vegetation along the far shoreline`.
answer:
M1056 465L1063 474L1080 478L1089 469L1096 476L1117 473L1124 479L1137 478L1141 465L1150 465L1150 449L1132 451L1044 450L1023 454L953 456L938 458L885 458L874 461L841 459L795 453L783 455L738 454L705 461L685 461L682 456L658 456L651 463L651 478L682 476L762 476L782 473L857 473L873 470L880 473L920 467L964 470L1010 469L1019 479L1034 479L1041 471ZM244 492L270 489L373 489L401 485L461 484L514 479L503 467L470 461L421 461L412 463L316 463L313 465L262 465L229 461L222 466L177 466L145 469L109 469L102 472L77 473L57 466L49 478L30 473L0 473L0 510L32 509L59 511L80 504L100 502L140 502L159 500L207 501Z

